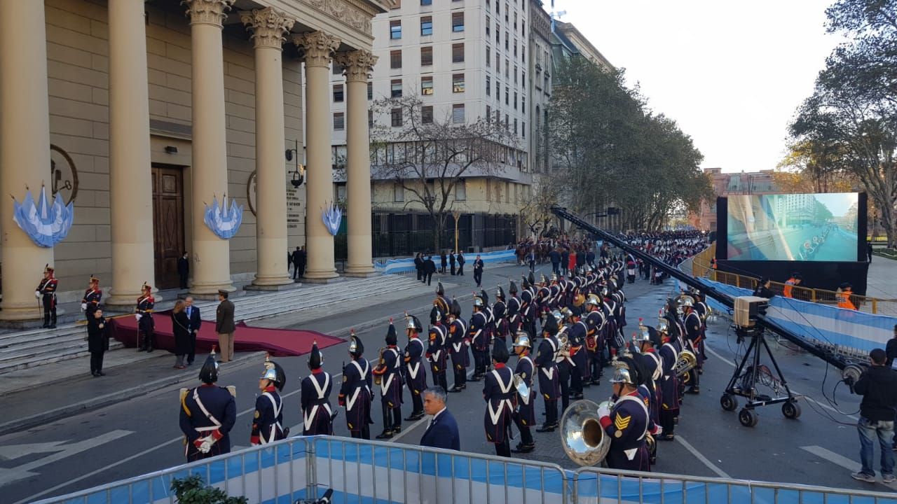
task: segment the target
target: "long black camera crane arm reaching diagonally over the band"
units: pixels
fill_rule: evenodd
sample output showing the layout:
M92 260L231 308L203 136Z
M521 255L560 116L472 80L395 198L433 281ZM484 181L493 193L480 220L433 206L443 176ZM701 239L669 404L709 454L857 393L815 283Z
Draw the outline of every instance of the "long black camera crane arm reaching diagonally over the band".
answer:
M579 215L577 215L576 213L572 213L569 210L567 210L566 208L563 208L561 206L556 206L556 205L552 206L551 210L552 210L552 213L554 213L558 217L561 217L562 219L566 219L566 220L572 222L573 224L576 224L577 226L579 226L579 228L581 228L583 230L587 230L588 232L594 233L597 236L601 237L602 239L605 239L606 241L611 242L612 244L614 244L615 247L622 248L624 251L628 252L632 256L640 258L642 261L645 261L649 265L652 265L652 266L658 268L659 270L663 271L666 274L669 274L670 276L674 277L676 280L683 282L686 285L705 293L706 295L710 296L710 298L717 300L718 302L722 303L723 305L726 305L728 308L735 308L735 300L733 300L732 297L729 296L728 294L718 291L716 288L714 288L710 285L699 282L692 275L684 274L678 268L675 268L671 265L667 265L663 261L659 260L657 257L649 256L648 254L645 254L644 252L642 252L636 248L632 248L628 243L626 243L622 239L615 237L613 234L611 234L605 230L597 228L596 226L590 224L589 222L587 222L584 219L582 219L581 217L579 217ZM790 331L788 331L788 329L786 329L782 326L779 326L779 324L775 323L774 321L770 320L767 317L764 317L762 315L758 316L757 324L759 326L762 326L765 329L772 331L773 333L775 333L777 335L782 336L783 338L787 339L789 342L794 343L797 346L799 346L800 348L806 350L806 352L812 353L816 357L822 359L823 361L828 362L832 366L834 366L842 371L845 368L856 366L856 363L847 361L843 356L836 355L832 352L829 352L827 350L819 348L812 343L808 343L804 338L791 333Z

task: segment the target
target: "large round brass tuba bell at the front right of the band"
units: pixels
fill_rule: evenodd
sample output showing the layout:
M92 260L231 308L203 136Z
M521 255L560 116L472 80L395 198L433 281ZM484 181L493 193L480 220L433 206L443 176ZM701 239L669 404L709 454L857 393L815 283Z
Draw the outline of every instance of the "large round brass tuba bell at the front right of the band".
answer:
M611 448L611 439L598 419L599 407L588 399L577 401L570 404L561 418L563 451L579 465L600 464Z

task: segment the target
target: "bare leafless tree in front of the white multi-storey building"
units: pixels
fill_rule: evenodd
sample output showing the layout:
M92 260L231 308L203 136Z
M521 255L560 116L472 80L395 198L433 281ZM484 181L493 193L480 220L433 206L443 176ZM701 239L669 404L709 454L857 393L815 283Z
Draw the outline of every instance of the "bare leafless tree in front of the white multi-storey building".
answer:
M516 138L490 117L467 120L464 109L438 116L417 96L377 100L372 109L386 123L371 129L371 174L401 186L405 208L420 204L430 214L438 251L458 182L503 173L515 162Z

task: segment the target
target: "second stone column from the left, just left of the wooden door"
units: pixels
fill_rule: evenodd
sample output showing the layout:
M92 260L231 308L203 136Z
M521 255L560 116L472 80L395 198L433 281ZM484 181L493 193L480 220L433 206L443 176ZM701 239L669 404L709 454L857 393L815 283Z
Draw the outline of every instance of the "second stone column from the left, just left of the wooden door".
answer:
M153 283L150 97L143 2L109 2L109 209L112 291L133 306Z

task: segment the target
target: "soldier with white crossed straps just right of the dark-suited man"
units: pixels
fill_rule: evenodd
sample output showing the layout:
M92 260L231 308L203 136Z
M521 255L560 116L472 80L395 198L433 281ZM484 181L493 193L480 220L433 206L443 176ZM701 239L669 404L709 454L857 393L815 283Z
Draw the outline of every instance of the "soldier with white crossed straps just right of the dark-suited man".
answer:
M514 375L507 362L508 347L503 344L493 346L494 369L486 374L483 384L483 399L486 401L483 426L486 441L495 444L495 454L498 456L510 456L510 423L517 399Z

